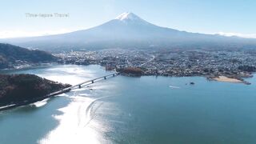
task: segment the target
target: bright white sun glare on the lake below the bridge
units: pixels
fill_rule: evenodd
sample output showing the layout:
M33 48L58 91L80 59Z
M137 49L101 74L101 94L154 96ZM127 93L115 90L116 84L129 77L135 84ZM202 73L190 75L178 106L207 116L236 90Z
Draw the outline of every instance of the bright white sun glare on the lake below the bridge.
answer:
M76 96L68 106L58 109L63 113L54 115L59 121L58 127L42 138L40 143L99 143L97 132L90 126L85 127L90 121L85 112L91 101L91 98Z

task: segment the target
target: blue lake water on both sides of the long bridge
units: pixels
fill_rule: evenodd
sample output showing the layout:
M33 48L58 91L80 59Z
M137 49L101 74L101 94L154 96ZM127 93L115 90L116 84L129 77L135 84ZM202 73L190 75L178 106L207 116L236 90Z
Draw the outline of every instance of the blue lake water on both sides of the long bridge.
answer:
M68 65L11 73L75 84L110 72ZM248 81L118 76L0 112L0 143L255 143L256 78Z

